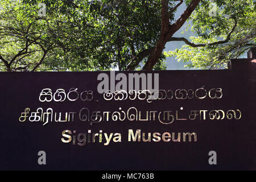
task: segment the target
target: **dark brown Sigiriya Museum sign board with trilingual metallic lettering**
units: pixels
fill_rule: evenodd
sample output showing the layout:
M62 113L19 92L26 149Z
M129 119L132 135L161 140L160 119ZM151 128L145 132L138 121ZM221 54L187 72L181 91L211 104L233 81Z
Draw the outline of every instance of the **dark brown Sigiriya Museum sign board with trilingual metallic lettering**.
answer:
M255 65L233 62L227 70L115 72L158 73L161 99L151 102L106 100L97 76L110 72L1 72L0 169L255 170ZM43 89L51 96L40 97Z

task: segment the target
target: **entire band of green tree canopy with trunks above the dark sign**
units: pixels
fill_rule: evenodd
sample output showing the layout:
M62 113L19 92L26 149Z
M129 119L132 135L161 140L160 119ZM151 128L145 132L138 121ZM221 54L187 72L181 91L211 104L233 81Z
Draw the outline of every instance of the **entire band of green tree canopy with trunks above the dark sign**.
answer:
M1 0L0 70L166 69L166 56L222 68L255 47L255 17L251 0ZM186 21L196 36L174 37ZM186 45L163 51L175 41Z

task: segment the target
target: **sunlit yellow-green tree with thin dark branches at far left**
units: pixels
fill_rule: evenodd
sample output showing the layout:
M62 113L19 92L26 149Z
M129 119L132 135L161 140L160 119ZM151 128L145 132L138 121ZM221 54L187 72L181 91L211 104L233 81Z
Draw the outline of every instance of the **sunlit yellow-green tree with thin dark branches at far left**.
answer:
M1 1L1 66L4 64L7 71L35 71L55 42L45 34L45 22L38 17L34 18L34 11L26 11L26 6L18 3Z

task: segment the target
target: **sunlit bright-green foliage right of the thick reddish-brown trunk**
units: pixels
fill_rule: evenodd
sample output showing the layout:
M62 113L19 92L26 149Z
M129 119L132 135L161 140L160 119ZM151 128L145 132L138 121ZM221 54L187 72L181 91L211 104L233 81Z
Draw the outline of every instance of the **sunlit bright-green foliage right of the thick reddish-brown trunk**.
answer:
M210 2L202 2L189 18L191 30L199 36L191 37L191 42L171 38L186 45L166 56L192 61L188 67L219 69L256 46L256 11L252 1L216 1L215 16L210 16L209 7Z

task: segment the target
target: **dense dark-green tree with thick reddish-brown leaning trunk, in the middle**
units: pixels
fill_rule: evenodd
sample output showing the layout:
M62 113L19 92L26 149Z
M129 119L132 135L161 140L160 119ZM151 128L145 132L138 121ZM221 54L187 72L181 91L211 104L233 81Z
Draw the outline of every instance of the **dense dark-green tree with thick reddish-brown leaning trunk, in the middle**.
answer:
M187 9L177 20L174 13L183 1L90 1L90 11L105 28L102 44L119 70L134 70L139 64L150 70L161 68L165 44L199 2L187 1Z

